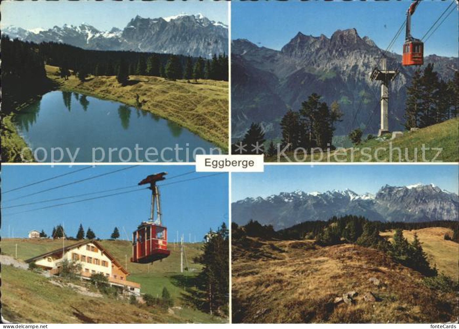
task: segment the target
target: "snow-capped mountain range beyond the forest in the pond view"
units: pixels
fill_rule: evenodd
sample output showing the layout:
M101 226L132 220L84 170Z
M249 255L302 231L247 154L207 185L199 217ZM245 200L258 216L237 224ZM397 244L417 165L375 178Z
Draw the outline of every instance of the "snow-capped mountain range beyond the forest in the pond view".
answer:
M30 30L9 26L1 33L35 43L59 42L92 50L132 50L206 58L228 54L228 27L202 14L153 19L136 16L123 29L113 27L109 31L82 23Z

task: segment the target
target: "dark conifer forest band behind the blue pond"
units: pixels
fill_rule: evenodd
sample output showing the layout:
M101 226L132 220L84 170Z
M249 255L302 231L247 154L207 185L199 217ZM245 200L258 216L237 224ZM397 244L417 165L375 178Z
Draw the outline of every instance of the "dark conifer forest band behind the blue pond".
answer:
M23 42L6 36L1 38L1 49L4 113L52 89L52 82L46 78L45 64L58 66L64 78L72 70L82 81L88 75L118 76L121 84L129 79L129 75L228 81L228 56L225 54L204 59L173 54L96 51L63 43Z

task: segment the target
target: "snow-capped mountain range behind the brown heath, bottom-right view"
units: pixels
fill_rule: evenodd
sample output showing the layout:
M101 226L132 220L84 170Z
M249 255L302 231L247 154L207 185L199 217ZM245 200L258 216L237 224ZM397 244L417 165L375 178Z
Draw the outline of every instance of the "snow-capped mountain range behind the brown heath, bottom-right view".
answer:
M297 190L236 201L232 221L244 225L252 219L271 224L275 230L342 215L365 216L372 221L455 221L458 208L458 194L433 184L386 185L376 194L357 194L350 189L324 193Z

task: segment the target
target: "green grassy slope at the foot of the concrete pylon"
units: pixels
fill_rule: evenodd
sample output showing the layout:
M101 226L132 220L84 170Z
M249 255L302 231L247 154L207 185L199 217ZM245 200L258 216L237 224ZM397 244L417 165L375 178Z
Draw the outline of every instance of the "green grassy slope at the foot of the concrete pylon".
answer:
M330 162L390 162L391 151L390 145L392 145L392 162L399 162L399 151L401 150L401 162L410 162L415 159L415 150L417 149L417 162L435 161L442 162L459 162L459 118L450 119L442 122L441 124L434 124L430 127L419 129L414 132L405 132L403 136L394 140L378 141L369 140L362 142L354 148L348 148L346 151L331 151ZM440 155L437 156L437 150L426 150L425 160L422 159L422 146L425 148L442 148ZM395 150L394 150L395 149ZM377 151L377 157L375 159L375 152ZM407 151L405 151L407 150ZM407 152L407 153L405 153ZM371 155L371 160L369 160ZM291 161L295 162L292 153L287 153L287 156ZM437 156L437 157L436 157ZM327 154L314 154L313 158L307 156L305 159L302 154L298 154L299 160L305 162L316 161L326 162ZM265 161L276 162L277 157L272 156L265 158ZM281 162L287 160L283 157L280 159Z

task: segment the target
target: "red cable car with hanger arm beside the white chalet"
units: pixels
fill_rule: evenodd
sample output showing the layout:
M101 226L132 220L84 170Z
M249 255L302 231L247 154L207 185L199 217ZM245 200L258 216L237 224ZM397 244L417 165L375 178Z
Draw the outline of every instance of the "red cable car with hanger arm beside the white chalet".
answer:
M151 211L150 220L143 221L132 234L132 257L133 263L152 263L169 256L167 249L167 228L161 222L161 203L159 200L158 181L164 180L167 173L150 175L140 181L139 185L150 184ZM153 218L156 201L156 220Z

